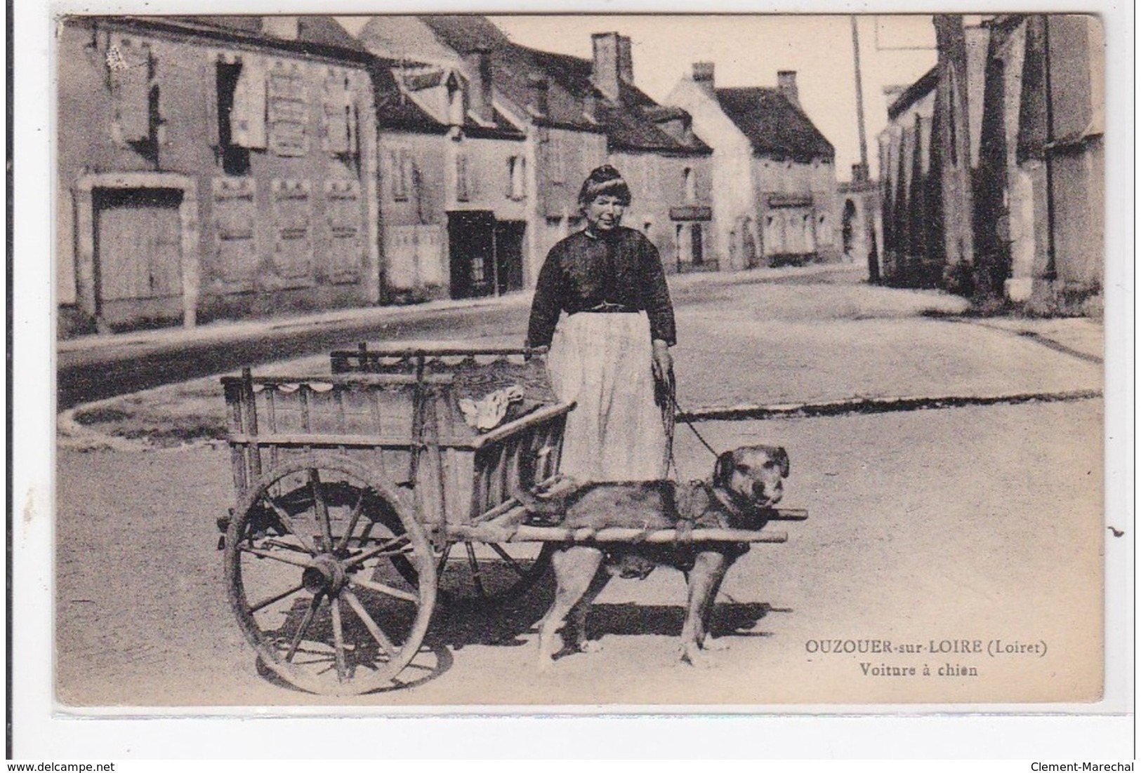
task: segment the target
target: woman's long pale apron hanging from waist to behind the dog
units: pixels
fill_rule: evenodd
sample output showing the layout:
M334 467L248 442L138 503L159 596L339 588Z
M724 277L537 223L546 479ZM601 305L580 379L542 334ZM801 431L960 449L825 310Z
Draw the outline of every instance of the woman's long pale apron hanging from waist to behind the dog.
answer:
M665 477L665 429L654 401L649 320L638 314L574 314L548 355L567 415L559 471L582 481Z

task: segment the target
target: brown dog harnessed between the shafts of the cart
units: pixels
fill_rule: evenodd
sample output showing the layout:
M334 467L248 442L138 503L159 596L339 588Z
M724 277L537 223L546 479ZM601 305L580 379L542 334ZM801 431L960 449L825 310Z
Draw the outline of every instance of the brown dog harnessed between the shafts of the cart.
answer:
M779 446L743 446L718 457L707 481L588 483L551 499L517 493L537 516L561 514L568 528L637 527L646 530L720 527L759 529L784 495L788 454ZM741 543L675 545L567 545L552 556L556 591L551 609L540 621L540 667L549 666L564 650L588 652L590 605L614 575L646 577L657 565L670 564L688 575L689 600L681 629L681 659L704 665L703 649L720 649L706 641L709 618L721 580L733 562L748 551ZM566 625L563 641L558 630Z

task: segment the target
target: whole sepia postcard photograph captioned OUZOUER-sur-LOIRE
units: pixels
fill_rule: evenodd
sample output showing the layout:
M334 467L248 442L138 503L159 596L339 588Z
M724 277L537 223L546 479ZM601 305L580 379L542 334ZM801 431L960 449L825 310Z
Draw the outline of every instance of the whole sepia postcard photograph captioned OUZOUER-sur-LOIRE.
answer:
M59 16L56 709L1100 701L1104 34Z

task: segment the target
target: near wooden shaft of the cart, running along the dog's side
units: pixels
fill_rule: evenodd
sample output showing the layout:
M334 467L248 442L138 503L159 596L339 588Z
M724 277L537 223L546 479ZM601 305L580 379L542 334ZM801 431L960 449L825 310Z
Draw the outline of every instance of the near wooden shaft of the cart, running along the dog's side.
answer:
M686 540L678 539L674 529L646 531L624 527L604 527L601 529L570 529L558 526L499 526L482 523L479 526L448 526L447 537L452 540L470 540L486 543L626 543L669 545L673 543L772 543L788 542L784 531L752 531L748 529L694 529Z

